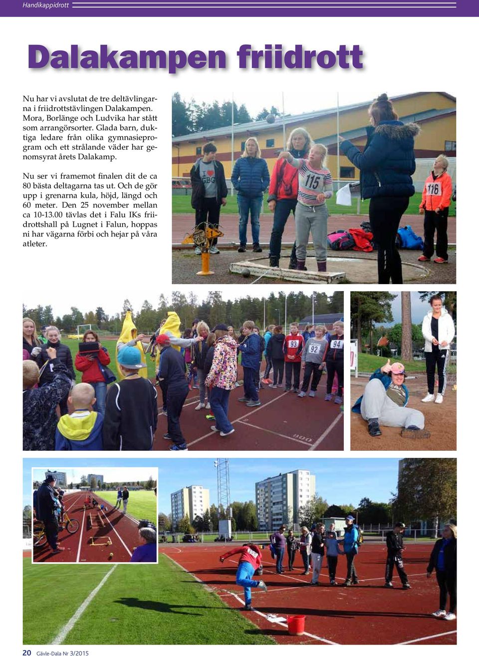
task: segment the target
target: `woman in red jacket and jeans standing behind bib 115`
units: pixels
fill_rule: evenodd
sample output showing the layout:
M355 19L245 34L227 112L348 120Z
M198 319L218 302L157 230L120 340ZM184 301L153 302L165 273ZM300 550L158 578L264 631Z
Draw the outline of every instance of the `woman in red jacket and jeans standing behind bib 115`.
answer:
M293 157L307 157L313 137L302 127L292 131L286 143L286 150ZM269 266L279 266L281 237L290 213L294 214L297 203L297 169L286 159L278 159L271 173L269 183L268 207L273 216L273 230L269 241ZM296 243L290 256L290 269L296 269Z

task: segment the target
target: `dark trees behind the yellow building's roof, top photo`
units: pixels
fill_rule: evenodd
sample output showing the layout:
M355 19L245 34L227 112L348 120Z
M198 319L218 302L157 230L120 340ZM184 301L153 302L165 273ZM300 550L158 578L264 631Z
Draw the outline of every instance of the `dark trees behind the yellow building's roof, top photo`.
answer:
M267 115L279 116L277 107L272 106L269 110L265 107L252 116L245 104L238 106L233 102L233 123L251 123L261 121ZM178 92L172 96L172 136L182 136L204 130L214 130L219 127L231 125L231 100L225 100L221 104L218 100L212 103L197 103L194 98L183 100Z

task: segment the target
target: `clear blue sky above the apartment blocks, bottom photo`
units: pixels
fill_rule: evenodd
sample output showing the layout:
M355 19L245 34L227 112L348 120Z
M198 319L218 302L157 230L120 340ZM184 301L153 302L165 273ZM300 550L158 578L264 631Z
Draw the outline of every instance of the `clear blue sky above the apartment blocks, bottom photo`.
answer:
M169 514L170 494L189 485L203 485L210 490L210 502L217 502L216 468L214 457L178 459L24 459L24 506L31 501L31 467L42 472L67 469L88 470L101 474L106 467L158 468L158 508ZM73 467L72 467L73 465ZM254 483L277 476L280 472L307 469L316 474L316 493L330 504L357 505L362 497L387 502L396 490L398 480L397 458L231 458L229 482L231 501L254 500ZM129 476L135 479L137 476ZM153 476L153 478L155 478Z

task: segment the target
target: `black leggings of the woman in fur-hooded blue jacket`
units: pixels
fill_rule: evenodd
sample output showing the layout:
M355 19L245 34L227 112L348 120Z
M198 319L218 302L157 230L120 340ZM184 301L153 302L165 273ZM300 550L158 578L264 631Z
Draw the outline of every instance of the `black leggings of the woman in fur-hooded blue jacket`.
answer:
M377 276L380 285L402 285L402 266L396 248L396 235L402 215L408 209L409 197L377 196L369 206L369 219L377 243Z

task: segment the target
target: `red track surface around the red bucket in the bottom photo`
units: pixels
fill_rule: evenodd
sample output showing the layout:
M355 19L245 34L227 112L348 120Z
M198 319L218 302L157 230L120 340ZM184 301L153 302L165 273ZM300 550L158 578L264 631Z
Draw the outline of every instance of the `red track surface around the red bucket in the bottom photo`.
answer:
M221 554L234 544L185 544L161 546L160 552L181 565L198 579L198 584L212 588L229 606L242 609L242 588L235 584L238 556L220 564ZM254 611L245 613L264 634L280 644L456 644L456 621L446 622L431 616L438 608L439 593L434 577L427 579L432 543L408 544L404 566L412 588L402 590L397 576L394 588L384 588L386 550L382 544L363 544L354 564L360 577L358 586L343 588L329 584L326 558L319 587L312 587L311 575L303 576L297 567L278 575L269 550L263 550L263 580L267 592L252 589ZM337 581L342 583L346 561L339 556ZM287 568L287 556L284 564ZM257 578L257 577L256 577ZM191 584L185 581L185 584ZM273 617L305 615L303 636L288 635L286 622Z

